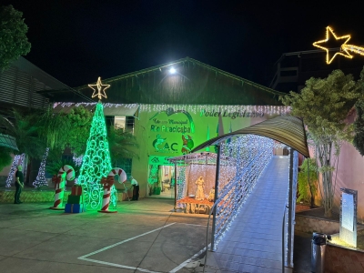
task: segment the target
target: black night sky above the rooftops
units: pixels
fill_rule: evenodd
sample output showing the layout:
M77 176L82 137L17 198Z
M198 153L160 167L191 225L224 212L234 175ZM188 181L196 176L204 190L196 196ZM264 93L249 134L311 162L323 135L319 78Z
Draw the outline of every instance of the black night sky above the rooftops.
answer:
M351 2L0 0L0 5L23 12L32 44L25 58L75 87L186 56L267 85L279 56L315 49L312 43L324 38L327 25L364 45L364 4Z

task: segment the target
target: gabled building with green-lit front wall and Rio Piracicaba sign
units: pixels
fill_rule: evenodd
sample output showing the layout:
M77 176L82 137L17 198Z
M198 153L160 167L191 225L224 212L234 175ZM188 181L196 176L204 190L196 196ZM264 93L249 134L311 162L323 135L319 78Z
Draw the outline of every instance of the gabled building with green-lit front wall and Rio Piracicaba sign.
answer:
M102 75L101 75L102 76ZM120 166L140 185L140 196L174 197L173 168L168 157L188 153L218 134L250 126L271 116L284 115L284 95L239 76L186 57L168 64L112 78L103 99L106 122L133 132L138 158ZM76 93L74 92L76 89ZM83 105L93 90L87 85L38 92L55 103L55 111ZM78 96L77 96L78 94ZM215 152L214 147L207 151ZM172 185L171 185L172 184Z

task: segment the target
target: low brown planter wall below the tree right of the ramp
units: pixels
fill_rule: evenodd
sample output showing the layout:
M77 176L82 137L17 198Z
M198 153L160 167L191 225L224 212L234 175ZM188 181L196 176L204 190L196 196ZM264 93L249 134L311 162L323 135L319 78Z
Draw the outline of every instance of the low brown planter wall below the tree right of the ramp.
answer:
M295 230L306 233L335 234L339 232L339 221L327 220L317 217L308 217L296 214Z

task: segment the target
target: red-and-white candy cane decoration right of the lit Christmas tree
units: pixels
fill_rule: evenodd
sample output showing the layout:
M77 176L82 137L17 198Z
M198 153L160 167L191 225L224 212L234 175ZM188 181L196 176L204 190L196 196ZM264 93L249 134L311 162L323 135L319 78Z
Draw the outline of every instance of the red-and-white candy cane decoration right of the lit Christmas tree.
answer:
M116 210L108 210L110 204L111 187L114 185L114 178L116 175L119 177L117 182L124 183L126 181L126 172L120 167L113 168L108 173L107 177L103 177L101 179L101 184L104 185L104 195L102 208L101 210L98 210L98 212L116 213Z

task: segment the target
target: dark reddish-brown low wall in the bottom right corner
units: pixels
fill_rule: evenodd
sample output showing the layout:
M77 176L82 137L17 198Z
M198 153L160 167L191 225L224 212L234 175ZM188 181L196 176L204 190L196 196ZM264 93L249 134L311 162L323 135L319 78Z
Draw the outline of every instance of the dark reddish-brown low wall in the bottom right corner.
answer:
M364 272L364 252L328 243L325 252L325 273Z

